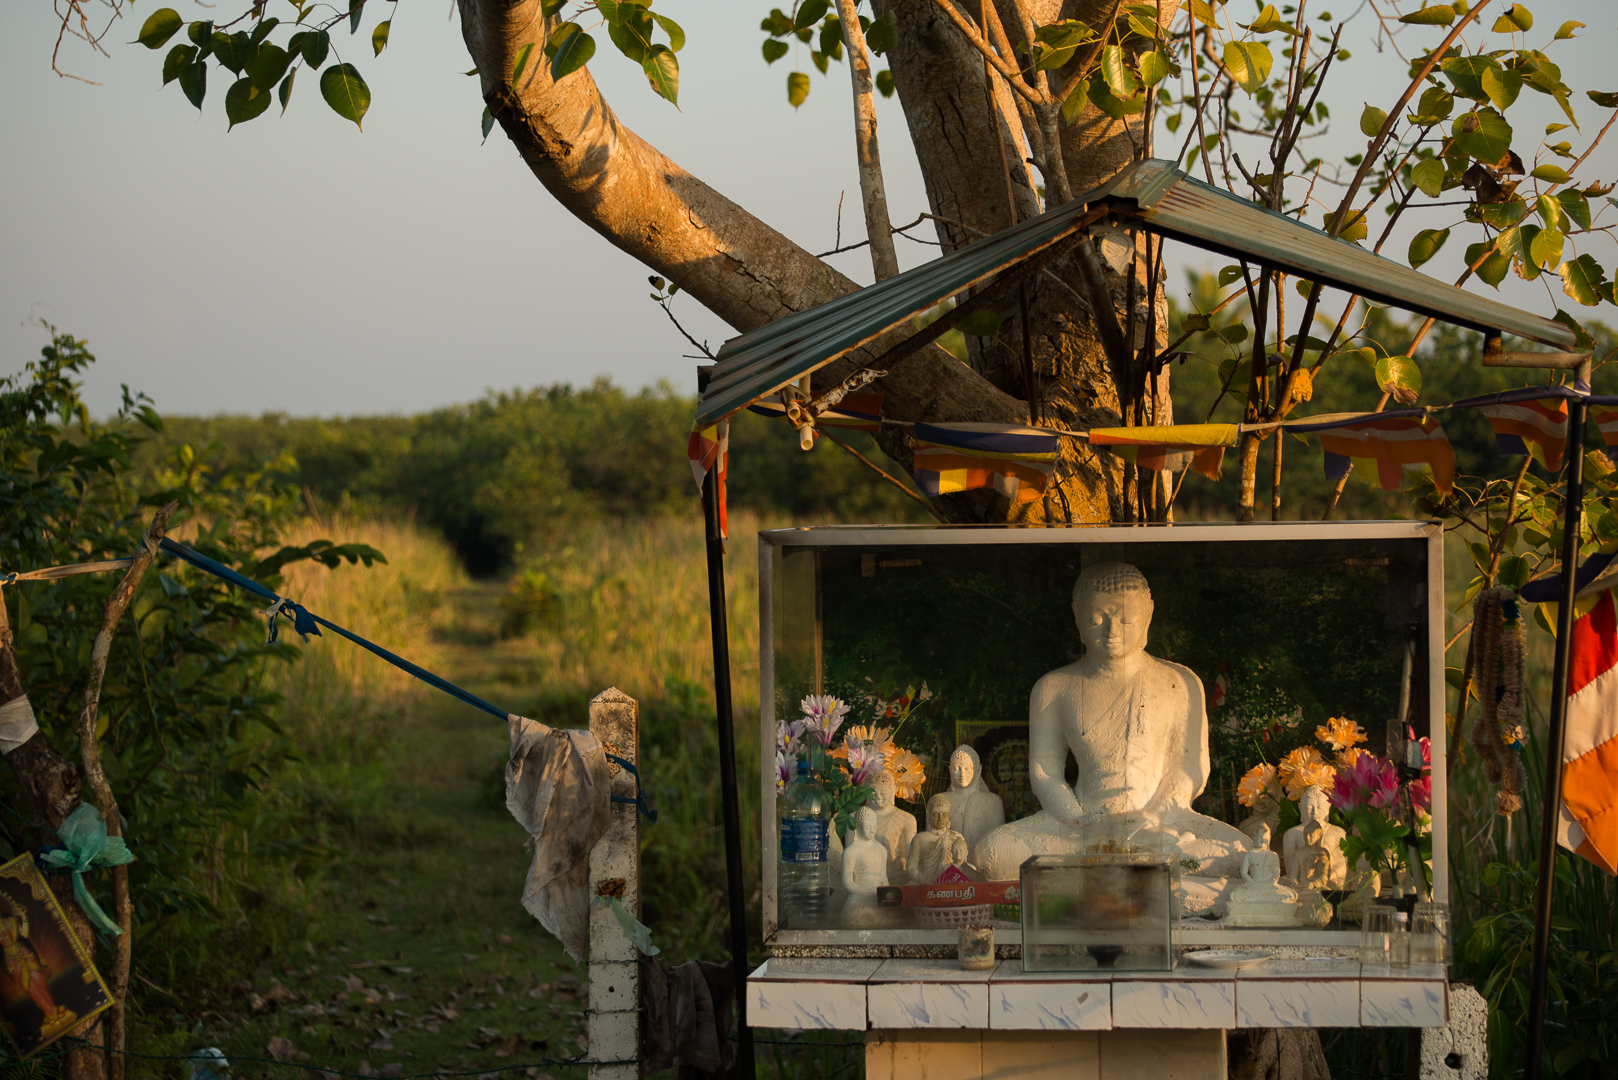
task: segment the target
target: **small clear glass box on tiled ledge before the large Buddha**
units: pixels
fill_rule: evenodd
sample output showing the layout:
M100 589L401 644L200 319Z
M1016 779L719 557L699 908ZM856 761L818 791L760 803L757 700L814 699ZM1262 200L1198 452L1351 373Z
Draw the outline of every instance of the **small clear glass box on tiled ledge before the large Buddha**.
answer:
M1175 967L1170 855L1036 855L1023 863L1024 972Z

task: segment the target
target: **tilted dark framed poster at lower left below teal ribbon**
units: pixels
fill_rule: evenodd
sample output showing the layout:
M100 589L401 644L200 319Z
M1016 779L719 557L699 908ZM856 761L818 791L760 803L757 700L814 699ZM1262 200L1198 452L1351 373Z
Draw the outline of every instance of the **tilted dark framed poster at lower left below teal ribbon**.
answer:
M112 1006L32 855L0 866L0 1025L28 1059Z

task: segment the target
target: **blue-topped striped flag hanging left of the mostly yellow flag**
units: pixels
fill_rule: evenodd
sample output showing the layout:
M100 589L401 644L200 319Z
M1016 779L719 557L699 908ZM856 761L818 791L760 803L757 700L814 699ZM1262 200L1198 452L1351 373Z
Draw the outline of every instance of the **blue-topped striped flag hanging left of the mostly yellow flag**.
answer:
M1060 439L1039 427L1003 424L916 424L913 474L930 499L993 487L1011 502L1045 492Z

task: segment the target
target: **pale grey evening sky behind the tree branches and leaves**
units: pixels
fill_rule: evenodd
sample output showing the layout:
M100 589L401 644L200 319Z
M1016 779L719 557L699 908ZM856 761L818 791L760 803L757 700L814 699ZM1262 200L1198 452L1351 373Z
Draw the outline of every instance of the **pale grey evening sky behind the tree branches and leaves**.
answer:
M170 2L186 19L218 13ZM1246 2L1231 0L1231 10ZM110 57L63 47L61 66L97 84L50 70L49 3L0 10L0 374L37 356L45 321L87 338L99 356L86 379L95 413L116 405L120 384L165 413L296 416L413 413L600 377L694 389L697 361L683 356L691 347L647 298L649 270L555 204L498 128L482 144L479 81L463 74L471 62L448 0L387 5L393 26L379 58L367 39L374 18L359 36L338 36L337 49L372 89L364 133L325 107L312 78L285 118L272 108L227 133L222 71L210 71L199 115L176 84L160 87L162 50L121 44L155 6L142 2L108 34ZM272 0L270 13L278 6L291 10ZM765 66L759 55L757 19L769 6L659 3L688 31L678 110L610 47L591 70L633 130L796 243L825 251L845 193L843 243L862 238L848 74L841 65L828 78L814 73L809 100L793 110L791 57ZM1618 40L1615 11L1607 0L1532 6L1535 42L1563 19L1589 24L1553 53L1581 91L1582 134L1558 138L1582 146L1607 120L1582 89L1618 89L1607 57ZM1335 121L1317 149L1327 157L1362 147L1364 100L1388 97L1406 78L1369 34L1362 5L1345 34L1353 63L1327 86ZM809 68L807 55L799 66ZM1548 99L1524 99L1537 100L1508 113L1519 131L1561 118ZM898 99L877 108L890 215L909 222L925 209L921 175ZM1176 149L1160 136L1160 155ZM1590 165L1618 178L1618 142L1603 142ZM1408 232L1445 223L1427 217ZM1400 256L1406 243L1398 236L1387 251ZM1424 270L1455 280L1463 246L1451 243ZM937 253L904 241L898 249L903 267ZM1597 249L1610 270L1613 254L1610 241ZM864 251L832 261L870 280ZM1184 267L1218 262L1171 248L1168 285L1180 285ZM1500 298L1542 314L1557 301L1573 306L1544 282L1508 279ZM675 309L710 348L733 334L689 298Z

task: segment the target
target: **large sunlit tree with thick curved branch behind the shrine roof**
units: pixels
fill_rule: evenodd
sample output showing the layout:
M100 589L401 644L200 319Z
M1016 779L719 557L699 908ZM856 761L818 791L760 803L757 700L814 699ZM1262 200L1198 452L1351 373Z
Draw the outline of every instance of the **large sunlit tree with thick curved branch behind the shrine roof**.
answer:
M125 3L112 0L113 13ZM63 32L99 40L83 5L65 0ZM1333 21L1307 0L1280 10L1257 2L1243 10L1244 0L864 5L861 11L856 0L801 0L770 10L760 32L765 63L807 47L822 73L833 62L849 66L854 149L879 280L898 264L872 94L896 92L925 183L927 217L945 251L1158 155L1343 243L1404 254L1411 266L1446 243L1466 243L1461 283L1479 279L1495 287L1511 272L1545 277L1552 285L1545 306L1569 324L1576 324L1569 311L1615 300L1605 274L1612 256L1595 243L1608 235L1600 212L1612 183L1584 167L1618 115L1618 92L1576 94L1563 81L1553 55L1558 42L1582 29L1578 21L1535 28L1524 5L1497 2L1485 13L1487 0L1372 5L1354 23ZM285 113L299 74L316 73L327 105L358 126L371 91L345 53L380 57L390 10L383 0L348 0L346 8L251 0L218 10L212 21L186 23L160 8L144 19L139 42L162 52L163 83L178 83L197 108L210 100L212 71L214 86L225 84L231 126L262 117L272 97ZM458 0L458 10L482 86L485 136L498 125L553 198L667 279L670 291L748 332L858 288L618 121L589 65L604 44L618 53L612 62L642 68L650 92L678 102L686 31L663 10L637 0ZM1354 42L1346 40L1349 32ZM1408 62L1408 78L1348 120L1358 121L1362 149L1341 160L1311 155L1311 138L1332 123L1322 87L1354 78L1349 45L1359 42L1393 49ZM874 73L880 63L887 70ZM788 104L801 104L811 86L809 73L790 71ZM1565 118L1544 138L1513 130L1513 107L1532 96L1555 100ZM1416 217L1406 222L1408 215ZM1411 223L1422 228L1408 251L1388 253L1401 222L1404 232ZM1456 230L1463 236L1451 241ZM1181 355L1205 363L1207 348L1186 348L1202 335L1217 337L1225 353L1222 397L1241 398L1247 421L1286 418L1320 379L1356 363L1375 371L1382 389L1375 408L1417 400L1413 355L1429 327L1413 340L1372 340L1362 314L1356 319L1358 298L1324 295L1312 282L1257 266L1225 267L1220 285L1233 290L1217 306L1241 319L1215 327L1212 311L1194 311L1184 334L1170 342L1162 243L1094 228L1008 296L1002 311L964 322L966 363L930 345L895 364L874 389L885 395L885 415L898 421L1065 431L1167 424L1175 419L1168 363ZM815 385L837 385L911 332L890 332L828 366ZM1212 411L1214 402L1207 406ZM1270 512L1280 515L1281 440L1257 432L1244 436L1238 455L1244 520L1254 517L1265 440L1277 478ZM909 466L904 427L885 426L879 444ZM938 510L958 521L1162 520L1173 492L1167 474L1136 474L1133 465L1065 439L1044 502L1014 507L979 491L947 495Z

